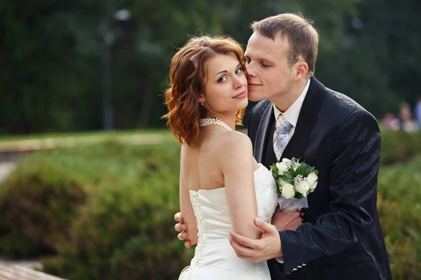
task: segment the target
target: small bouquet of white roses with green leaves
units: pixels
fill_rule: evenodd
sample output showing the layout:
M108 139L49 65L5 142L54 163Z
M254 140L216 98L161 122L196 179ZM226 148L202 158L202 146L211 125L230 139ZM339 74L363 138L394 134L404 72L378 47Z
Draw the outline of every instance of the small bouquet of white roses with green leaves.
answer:
M279 207L285 211L307 208L307 195L317 186L319 171L298 159L283 158L271 167Z

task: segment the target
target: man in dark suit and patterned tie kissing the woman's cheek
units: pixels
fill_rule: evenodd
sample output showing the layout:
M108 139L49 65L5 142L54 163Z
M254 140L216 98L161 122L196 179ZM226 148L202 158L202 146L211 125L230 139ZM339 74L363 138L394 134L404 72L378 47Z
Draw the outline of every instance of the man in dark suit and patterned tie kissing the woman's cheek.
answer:
M248 125L254 156L266 167L300 158L319 170L319 183L296 231L278 232L276 216L274 225L255 220L262 238L233 232L232 247L240 258L267 260L272 279L392 279L376 209L375 118L314 78L319 34L310 22L283 13L252 28L245 57L248 98L260 101Z

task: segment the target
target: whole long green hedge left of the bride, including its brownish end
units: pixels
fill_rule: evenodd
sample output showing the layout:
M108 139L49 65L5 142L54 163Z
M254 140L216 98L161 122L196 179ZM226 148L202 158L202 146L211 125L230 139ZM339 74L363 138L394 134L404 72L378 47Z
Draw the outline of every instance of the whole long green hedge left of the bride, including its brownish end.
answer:
M175 238L179 169L173 142L29 156L1 187L2 251L53 252L44 269L69 279L173 279L193 253Z

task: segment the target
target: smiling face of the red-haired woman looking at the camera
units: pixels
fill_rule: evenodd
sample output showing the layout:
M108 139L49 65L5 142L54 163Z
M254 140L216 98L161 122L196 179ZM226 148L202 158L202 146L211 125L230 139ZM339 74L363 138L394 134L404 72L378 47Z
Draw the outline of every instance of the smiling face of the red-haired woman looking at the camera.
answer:
M246 108L247 78L234 54L218 54L209 59L205 82L199 102L211 116L232 115Z

